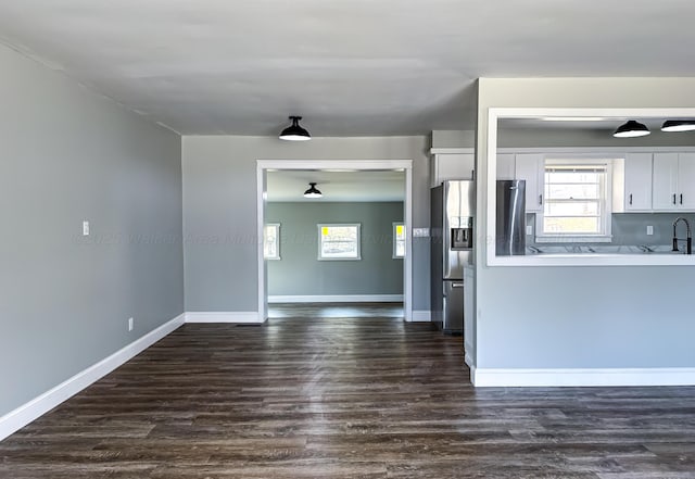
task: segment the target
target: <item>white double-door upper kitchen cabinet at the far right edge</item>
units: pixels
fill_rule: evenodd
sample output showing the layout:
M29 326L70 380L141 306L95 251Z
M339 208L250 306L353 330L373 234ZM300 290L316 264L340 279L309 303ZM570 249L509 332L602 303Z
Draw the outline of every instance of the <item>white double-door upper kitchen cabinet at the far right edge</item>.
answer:
M695 210L695 153L655 153L655 211Z

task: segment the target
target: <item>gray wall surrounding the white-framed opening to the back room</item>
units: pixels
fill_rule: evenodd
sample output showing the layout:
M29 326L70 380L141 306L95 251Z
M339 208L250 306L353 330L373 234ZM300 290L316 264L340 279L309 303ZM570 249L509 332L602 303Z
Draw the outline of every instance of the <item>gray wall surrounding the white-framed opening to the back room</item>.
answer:
M311 127L311 125L308 125ZM429 226L429 138L187 136L182 140L186 310L258 310L256 160L413 160L414 227ZM429 310L429 240L413 241L414 310Z

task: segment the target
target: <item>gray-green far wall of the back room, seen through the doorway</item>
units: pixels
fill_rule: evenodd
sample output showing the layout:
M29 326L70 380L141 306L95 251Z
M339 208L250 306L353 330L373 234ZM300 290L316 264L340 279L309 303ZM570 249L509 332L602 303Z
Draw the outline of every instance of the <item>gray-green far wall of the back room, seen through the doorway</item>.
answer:
M403 294L403 260L393 259L393 223L403 203L268 203L280 223L280 257L268 261L268 294ZM359 223L361 261L318 261L319 223Z

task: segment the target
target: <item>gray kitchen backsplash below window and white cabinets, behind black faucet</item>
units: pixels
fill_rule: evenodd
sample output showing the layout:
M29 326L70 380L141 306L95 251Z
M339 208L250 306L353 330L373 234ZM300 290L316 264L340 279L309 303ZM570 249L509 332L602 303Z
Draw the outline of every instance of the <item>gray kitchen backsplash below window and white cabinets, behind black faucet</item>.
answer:
M679 216L686 218L691 227L695 229L695 213L614 213L611 225L612 241L610 244L671 244L673 238L673 220ZM535 231L535 214L527 214L526 222L527 225L531 225ZM654 227L654 235L647 235L647 226ZM685 225L679 225L678 234L679 238L685 238ZM527 236L527 245L536 245L534 239L535 236ZM592 243L581 244L589 245ZM548 245L548 243L544 242L542 245Z

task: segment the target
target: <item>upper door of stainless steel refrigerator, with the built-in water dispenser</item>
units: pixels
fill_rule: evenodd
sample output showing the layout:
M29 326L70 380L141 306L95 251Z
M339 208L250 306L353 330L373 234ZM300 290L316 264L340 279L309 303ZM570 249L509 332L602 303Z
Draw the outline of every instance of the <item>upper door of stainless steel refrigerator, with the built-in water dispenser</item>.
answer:
M460 280L472 260L476 189L473 181L444 181L442 187L442 279Z

